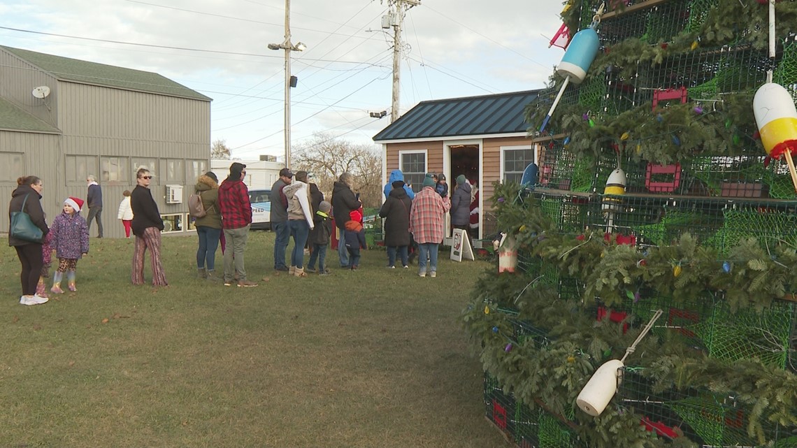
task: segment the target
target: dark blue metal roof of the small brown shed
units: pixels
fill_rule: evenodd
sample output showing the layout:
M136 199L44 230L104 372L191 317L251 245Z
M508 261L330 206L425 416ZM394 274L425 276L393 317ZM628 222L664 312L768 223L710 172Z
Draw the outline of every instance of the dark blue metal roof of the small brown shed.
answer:
M526 132L523 110L542 90L422 101L374 141Z

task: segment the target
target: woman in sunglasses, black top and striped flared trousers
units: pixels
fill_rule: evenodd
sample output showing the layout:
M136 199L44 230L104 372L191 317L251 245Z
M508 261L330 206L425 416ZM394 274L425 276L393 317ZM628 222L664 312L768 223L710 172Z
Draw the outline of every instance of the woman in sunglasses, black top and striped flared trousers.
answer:
M139 168L135 173L138 184L130 194L130 206L133 209L133 234L135 249L133 250L133 285L144 284L144 252L150 250L152 266L152 285L166 286L166 275L160 261L160 232L163 230L163 219L160 218L158 204L152 198L149 184L152 179L147 168Z

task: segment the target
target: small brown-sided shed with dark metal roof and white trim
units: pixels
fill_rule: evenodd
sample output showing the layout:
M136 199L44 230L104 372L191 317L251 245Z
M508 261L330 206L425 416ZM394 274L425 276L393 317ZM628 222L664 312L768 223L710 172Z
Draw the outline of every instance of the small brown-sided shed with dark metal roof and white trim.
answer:
M400 169L414 191L427 172L443 173L450 188L458 175L478 187L479 209L493 195L493 182L520 182L539 148L528 135L524 108L541 90L467 96L418 103L374 136L383 147L385 183ZM489 210L485 210L489 211ZM494 222L480 214L478 238L492 234ZM450 226L446 226L450 234ZM476 235L474 235L475 237Z

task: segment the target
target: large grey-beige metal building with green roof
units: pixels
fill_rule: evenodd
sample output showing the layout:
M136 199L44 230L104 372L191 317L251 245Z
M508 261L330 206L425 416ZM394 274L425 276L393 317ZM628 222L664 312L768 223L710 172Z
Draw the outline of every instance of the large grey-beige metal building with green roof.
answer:
M86 176L95 175L104 234L123 237L116 210L139 167L155 175L164 232L190 230L186 200L210 167L210 98L157 73L0 46L4 204L19 176L37 175L52 222L65 198L86 197ZM8 226L4 211L0 231Z

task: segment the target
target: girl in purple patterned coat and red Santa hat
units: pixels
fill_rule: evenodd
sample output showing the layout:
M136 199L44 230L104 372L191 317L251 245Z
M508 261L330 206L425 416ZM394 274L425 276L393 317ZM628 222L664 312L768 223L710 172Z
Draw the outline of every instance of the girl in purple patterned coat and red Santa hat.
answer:
M50 247L55 250L58 258L58 269L53 275L53 287L50 291L56 294L63 293L61 279L66 273L66 281L70 291L77 291L75 287L75 269L77 260L88 253L88 225L80 216L83 200L69 197L64 201L64 211L53 219L50 233L53 239Z

